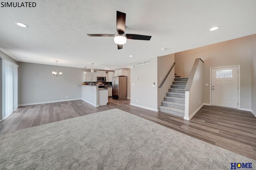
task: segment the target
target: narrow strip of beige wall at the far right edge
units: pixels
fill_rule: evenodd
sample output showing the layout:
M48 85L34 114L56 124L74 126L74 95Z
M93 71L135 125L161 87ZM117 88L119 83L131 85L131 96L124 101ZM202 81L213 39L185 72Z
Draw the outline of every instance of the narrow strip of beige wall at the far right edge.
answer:
M252 111L256 113L256 35L252 38Z

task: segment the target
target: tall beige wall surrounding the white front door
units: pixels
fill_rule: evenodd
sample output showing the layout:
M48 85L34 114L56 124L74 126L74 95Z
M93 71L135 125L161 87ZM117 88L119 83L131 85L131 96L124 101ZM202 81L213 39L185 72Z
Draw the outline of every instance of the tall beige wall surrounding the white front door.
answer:
M189 77L196 58L204 61L204 103L210 103L210 67L240 65L241 103L240 107L251 109L251 40L255 36L246 36L175 53L175 73ZM208 83L209 86L205 86Z

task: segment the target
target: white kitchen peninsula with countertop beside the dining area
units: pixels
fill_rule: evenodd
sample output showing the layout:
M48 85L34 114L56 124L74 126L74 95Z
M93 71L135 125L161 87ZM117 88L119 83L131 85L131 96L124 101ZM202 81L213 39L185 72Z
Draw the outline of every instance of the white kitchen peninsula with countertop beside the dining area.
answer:
M99 88L99 85L82 86L82 100L95 106L103 106L108 103L108 89Z

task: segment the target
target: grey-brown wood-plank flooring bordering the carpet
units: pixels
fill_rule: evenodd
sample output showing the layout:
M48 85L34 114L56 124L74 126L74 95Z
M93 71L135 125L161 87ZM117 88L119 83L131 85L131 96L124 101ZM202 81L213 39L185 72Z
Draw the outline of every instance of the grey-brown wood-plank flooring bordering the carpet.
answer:
M0 121L0 134L109 109L126 111L256 160L256 117L248 111L206 105L190 121L131 106L128 99L109 98L108 105L101 107L82 100L22 106Z

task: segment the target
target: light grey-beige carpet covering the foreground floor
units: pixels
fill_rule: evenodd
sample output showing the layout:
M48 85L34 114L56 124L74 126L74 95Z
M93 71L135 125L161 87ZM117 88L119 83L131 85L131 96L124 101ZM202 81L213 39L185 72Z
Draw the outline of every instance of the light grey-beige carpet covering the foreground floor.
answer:
M256 161L118 109L0 135L0 169L230 169Z

